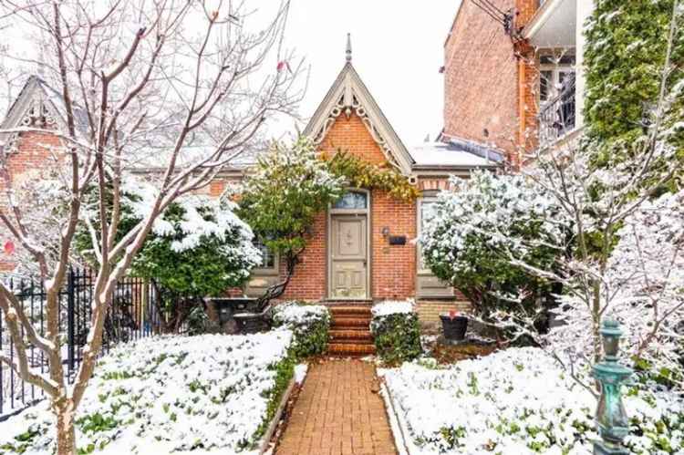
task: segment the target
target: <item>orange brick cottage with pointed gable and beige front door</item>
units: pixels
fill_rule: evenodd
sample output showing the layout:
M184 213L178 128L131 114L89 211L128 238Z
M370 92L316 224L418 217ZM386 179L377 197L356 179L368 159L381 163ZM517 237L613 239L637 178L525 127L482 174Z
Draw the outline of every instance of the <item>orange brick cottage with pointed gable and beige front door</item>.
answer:
M0 128L65 128L66 117L59 101L56 91L40 78L31 77ZM281 299L352 304L415 298L425 323L437 322L440 312L456 308L459 303L467 305L460 293L440 283L423 266L415 239L430 216L437 192L447 187L450 175L467 178L476 168L493 171L502 165L503 155L454 139L407 148L359 78L348 43L344 67L304 133L321 152L345 150L378 166L396 169L417 185L420 198L405 202L389 196L387 191L349 188L339 202L316 217L306 251ZM3 141L2 158L13 184L40 178L41 170L54 162L42 144L57 142L57 138L22 133ZM234 163L204 191L220 195L230 181L244 178L252 163ZM285 276L285 264L265 248L263 252L263 264L245 286L247 295L261 295ZM0 263L5 271L11 270L6 256Z

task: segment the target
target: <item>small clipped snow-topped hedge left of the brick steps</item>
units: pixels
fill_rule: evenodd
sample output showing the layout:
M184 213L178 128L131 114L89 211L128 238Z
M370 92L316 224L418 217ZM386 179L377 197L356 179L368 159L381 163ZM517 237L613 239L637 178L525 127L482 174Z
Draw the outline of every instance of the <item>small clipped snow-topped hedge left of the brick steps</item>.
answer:
M297 358L326 352L330 329L330 312L326 306L285 302L275 306L273 322L274 326L283 326L295 334L291 348Z

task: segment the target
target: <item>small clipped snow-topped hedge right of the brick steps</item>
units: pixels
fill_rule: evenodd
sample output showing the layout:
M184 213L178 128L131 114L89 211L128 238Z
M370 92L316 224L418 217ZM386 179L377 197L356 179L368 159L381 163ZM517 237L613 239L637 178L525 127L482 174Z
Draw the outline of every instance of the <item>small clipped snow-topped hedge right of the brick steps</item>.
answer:
M398 364L420 356L420 325L413 301L380 302L373 305L371 315L370 330L384 362Z

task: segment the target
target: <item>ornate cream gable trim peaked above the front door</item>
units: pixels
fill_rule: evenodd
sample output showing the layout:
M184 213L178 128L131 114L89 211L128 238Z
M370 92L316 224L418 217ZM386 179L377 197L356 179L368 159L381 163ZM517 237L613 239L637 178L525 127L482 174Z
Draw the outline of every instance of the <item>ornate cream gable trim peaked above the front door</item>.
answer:
M328 130L340 114L348 118L352 113L363 121L389 163L402 174L409 175L414 163L409 150L399 139L389 120L378 107L378 103L358 76L351 59L347 57L347 63L309 120L304 134L318 145L326 139Z

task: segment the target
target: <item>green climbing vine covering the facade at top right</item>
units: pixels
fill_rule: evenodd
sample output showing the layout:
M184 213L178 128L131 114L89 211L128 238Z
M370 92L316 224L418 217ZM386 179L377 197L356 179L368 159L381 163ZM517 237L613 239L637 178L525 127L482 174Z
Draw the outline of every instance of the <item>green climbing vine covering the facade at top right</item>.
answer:
M598 164L607 164L641 138L653 119L661 90L668 102L664 120L672 143L684 145L684 129L677 127L684 111L684 5L679 0L596 2L586 25L586 127L599 147ZM675 39L664 86L660 75L668 57L672 16ZM622 151L620 151L622 150ZM680 152L681 155L681 152Z

